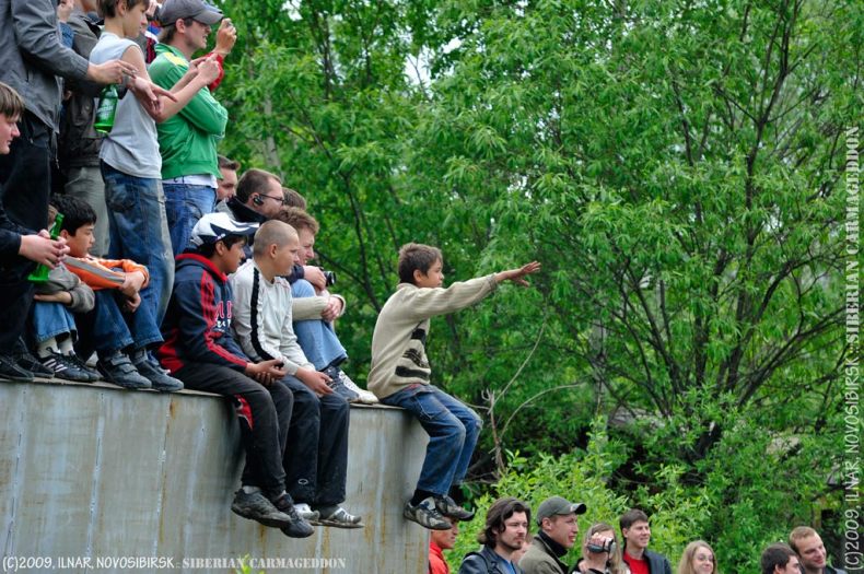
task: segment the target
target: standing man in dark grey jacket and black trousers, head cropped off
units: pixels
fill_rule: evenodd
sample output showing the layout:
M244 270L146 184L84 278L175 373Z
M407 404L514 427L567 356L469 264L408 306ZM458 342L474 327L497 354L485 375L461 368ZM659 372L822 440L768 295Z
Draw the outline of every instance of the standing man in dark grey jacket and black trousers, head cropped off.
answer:
M59 124L60 78L107 84L137 72L133 66L116 59L102 65L87 63L65 47L58 36L55 9L56 4L49 0L0 2L0 30L3 31L0 34L0 82L20 93L25 107L16 116L22 137L5 154L0 154L0 203L8 223L17 226L19 236L35 237L35 230L42 230L48 221L49 150ZM24 249L40 246L43 256L48 251L35 238L13 243ZM50 255L50 259L56 260L57 256ZM13 257L2 269L0 291L4 295L0 320L5 328L0 342L8 343L0 345L0 353L5 356L3 364L9 367L8 374L25 380L32 378L34 372L50 376L21 340L33 302L33 284L26 280L32 269L33 263Z

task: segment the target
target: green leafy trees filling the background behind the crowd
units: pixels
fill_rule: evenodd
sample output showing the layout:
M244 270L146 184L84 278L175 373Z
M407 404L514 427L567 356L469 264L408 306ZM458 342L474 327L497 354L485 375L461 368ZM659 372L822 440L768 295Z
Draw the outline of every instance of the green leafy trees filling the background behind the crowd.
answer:
M487 419L475 484L577 465L599 415L605 484L661 517L697 501L691 532L752 570L839 504L855 5L225 2L221 151L308 199L361 382L399 245L453 280L541 260L433 323L435 383Z

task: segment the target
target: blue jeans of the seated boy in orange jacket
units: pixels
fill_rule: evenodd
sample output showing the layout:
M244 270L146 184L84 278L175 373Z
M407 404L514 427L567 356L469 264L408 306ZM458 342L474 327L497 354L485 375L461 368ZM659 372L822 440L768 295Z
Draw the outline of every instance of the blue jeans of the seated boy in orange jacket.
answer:
M143 300L135 313L129 313L120 308L124 296L119 291L102 289L95 293L93 311L75 315L80 335L75 351L81 356L90 356L94 349L100 356L108 356L127 348L145 349L162 342L159 325Z

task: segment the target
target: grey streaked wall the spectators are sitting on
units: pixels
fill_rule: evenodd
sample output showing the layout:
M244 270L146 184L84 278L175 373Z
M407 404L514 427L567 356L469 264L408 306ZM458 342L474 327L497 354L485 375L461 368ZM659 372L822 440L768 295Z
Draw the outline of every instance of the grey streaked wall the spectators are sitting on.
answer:
M231 512L243 457L219 397L0 380L0 572L127 572L136 557L171 559L171 572L232 572L189 559L246 554L255 572L427 571L427 531L401 516L427 436L400 410L351 410L346 507L366 527L304 540ZM287 561L304 558L329 560ZM135 571L159 570L143 564Z

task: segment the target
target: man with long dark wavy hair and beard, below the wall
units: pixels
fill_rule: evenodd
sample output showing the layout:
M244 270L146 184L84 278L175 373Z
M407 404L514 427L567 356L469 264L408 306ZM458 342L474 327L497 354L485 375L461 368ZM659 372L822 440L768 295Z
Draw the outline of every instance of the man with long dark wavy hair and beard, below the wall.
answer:
M486 526L477 537L482 548L466 554L459 574L524 574L513 563L513 554L528 536L530 516L528 505L512 496L493 502L486 514Z

